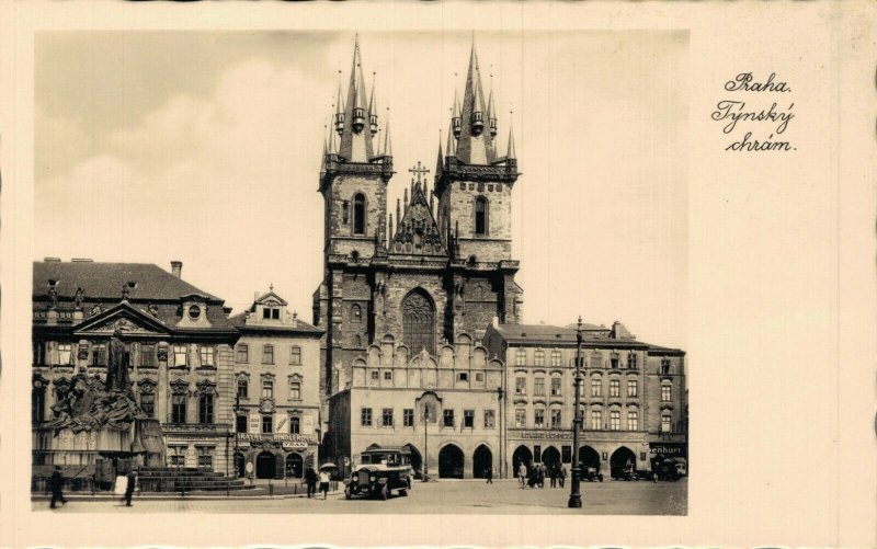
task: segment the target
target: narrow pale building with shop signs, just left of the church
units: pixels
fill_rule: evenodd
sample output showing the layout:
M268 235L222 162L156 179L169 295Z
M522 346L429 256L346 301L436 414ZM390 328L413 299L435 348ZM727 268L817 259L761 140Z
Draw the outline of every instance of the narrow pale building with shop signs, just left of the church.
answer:
M319 461L320 336L272 287L230 319L235 347L235 468L239 477L301 478Z

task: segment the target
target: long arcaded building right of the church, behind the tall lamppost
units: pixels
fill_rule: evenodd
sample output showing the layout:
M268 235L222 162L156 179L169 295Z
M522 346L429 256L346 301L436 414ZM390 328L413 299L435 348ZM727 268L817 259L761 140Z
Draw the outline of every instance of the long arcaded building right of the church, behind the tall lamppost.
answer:
M577 330L494 324L485 346L506 365L504 472L572 462ZM628 464L687 458L685 353L637 341L620 322L583 324L580 461L608 478ZM569 466L567 466L569 467Z

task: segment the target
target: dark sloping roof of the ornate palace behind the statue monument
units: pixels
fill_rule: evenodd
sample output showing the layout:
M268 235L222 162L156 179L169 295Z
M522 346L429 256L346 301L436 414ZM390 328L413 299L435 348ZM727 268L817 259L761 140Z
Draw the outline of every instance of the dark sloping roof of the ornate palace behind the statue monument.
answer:
M81 287L89 300L121 299L122 286L134 282L136 286L129 293L132 300L179 300L182 296L198 294L221 301L151 263L35 261L34 297L47 295L49 279L58 281L55 289L59 298L72 298Z

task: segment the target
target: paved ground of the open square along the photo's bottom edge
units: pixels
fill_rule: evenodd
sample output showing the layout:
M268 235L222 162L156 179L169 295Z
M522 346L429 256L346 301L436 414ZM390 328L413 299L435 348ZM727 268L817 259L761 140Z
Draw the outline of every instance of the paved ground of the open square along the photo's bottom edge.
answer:
M56 513L397 513L397 514L590 514L590 515L684 515L687 511L687 479L679 482L583 482L582 508L567 507L569 484L565 489L522 490L516 481L443 480L417 483L406 497L394 495L388 501L354 499L330 494L329 499L308 500L296 496L205 499L135 497L127 508L117 499L71 500ZM48 501L33 503L34 511L48 511Z

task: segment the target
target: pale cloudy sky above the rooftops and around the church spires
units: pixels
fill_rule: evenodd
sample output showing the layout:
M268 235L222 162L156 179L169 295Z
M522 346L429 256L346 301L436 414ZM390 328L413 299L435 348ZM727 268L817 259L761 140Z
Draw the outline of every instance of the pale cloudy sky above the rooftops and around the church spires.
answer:
M512 233L525 322L620 320L684 347L687 33L474 36L499 152L513 126L523 173ZM349 32L39 33L34 259L167 270L180 260L183 278L236 311L273 284L310 320L322 279L320 153L353 42ZM471 43L469 32L360 34L380 124L391 126L391 209L408 168L434 173Z

